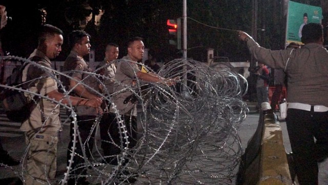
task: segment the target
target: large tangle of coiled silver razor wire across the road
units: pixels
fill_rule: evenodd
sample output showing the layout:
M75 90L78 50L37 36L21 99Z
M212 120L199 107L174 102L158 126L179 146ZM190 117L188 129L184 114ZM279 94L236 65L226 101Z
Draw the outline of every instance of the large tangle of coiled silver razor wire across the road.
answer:
M13 56L2 58L27 60ZM118 62L131 63L132 61L120 59ZM48 71L46 76L55 79L61 88L64 87L56 76L70 77L67 72L47 69L33 62L31 64ZM73 72L76 71L70 73ZM100 84L108 78L96 73L85 74ZM125 85L120 91L131 92L138 102L137 145L133 150L123 149L124 151L116 156L120 159L131 157L129 163L124 165L122 160L117 166L104 163L103 159L108 156L102 155L102 149L96 142L90 158L87 158L85 153L91 151L84 151L83 156L75 154L75 157L83 157L85 160L81 168L88 169L86 178L94 183L120 184L122 180L118 181L117 175L120 171L128 169L132 173L142 174L138 177L138 184L232 184L242 154L237 129L248 114L248 108L241 98L247 91L243 89L247 81L228 64L207 66L188 58L170 61L161 67L158 75L165 78L180 77L180 80L175 86L169 87L162 83L145 83L136 79L135 86ZM92 89L84 81L79 83ZM122 85L120 81L115 83ZM74 124L74 143L81 145L78 141L76 113L71 102L64 105L61 101L19 87L7 85L0 85L0 87L46 98L61 108L69 110L69 118L64 122L68 124L73 120L70 124ZM67 96L69 92L64 90ZM128 135L126 135L124 121L112 99L120 92L110 96L99 92L97 94L108 100L115 110L115 115L121 124L119 127L122 128L121 143L124 143L128 142ZM97 137L100 119L101 115L94 122L92 128L96 132L94 137ZM91 137L90 135L89 139ZM75 146L70 149L73 154L74 149ZM22 156L23 160L26 159L28 150L27 146ZM73 155L65 174L55 179L60 180L61 184L65 184L69 178L74 178L70 174L72 159ZM20 172L15 171L15 175L23 180L25 174L24 167ZM129 175L124 179L128 177ZM49 179L49 182L53 180Z

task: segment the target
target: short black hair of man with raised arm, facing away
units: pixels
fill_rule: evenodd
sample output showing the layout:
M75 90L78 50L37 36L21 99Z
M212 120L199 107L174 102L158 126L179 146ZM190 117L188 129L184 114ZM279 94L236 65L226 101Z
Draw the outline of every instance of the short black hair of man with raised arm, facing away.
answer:
M309 23L302 28L302 43L316 43L323 36L322 25L319 23Z

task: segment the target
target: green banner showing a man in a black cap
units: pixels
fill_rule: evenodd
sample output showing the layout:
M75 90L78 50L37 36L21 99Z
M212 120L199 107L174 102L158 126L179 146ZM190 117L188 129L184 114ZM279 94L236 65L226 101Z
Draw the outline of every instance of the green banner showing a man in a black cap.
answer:
M289 1L286 26L286 44L301 43L302 28L307 23L321 23L322 9Z

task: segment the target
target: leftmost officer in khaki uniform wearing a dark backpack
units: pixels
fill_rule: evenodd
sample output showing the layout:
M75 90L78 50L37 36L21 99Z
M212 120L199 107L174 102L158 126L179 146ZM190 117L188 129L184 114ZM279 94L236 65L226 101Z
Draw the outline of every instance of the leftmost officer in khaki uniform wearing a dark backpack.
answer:
M63 32L52 26L44 25L38 37L38 47L29 59L35 63L51 68L50 59L55 58L63 45ZM36 59L35 59L36 58ZM24 184L48 184L55 178L56 153L58 132L61 130L59 119L59 105L57 101L72 106L88 106L97 108L101 105L101 98L78 98L58 92L56 79L52 72L43 67L28 64L23 71L23 81L28 81L30 92L47 96L47 98L33 98L34 95L25 93L27 98L35 102L30 117L23 122L20 130L25 132L28 152L24 164Z

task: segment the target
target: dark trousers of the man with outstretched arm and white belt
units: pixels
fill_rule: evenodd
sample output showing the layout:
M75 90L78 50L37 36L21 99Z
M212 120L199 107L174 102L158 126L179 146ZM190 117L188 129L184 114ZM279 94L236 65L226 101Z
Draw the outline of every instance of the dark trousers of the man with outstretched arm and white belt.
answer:
M328 111L288 109L286 125L300 184L318 184L318 161L328 156Z

